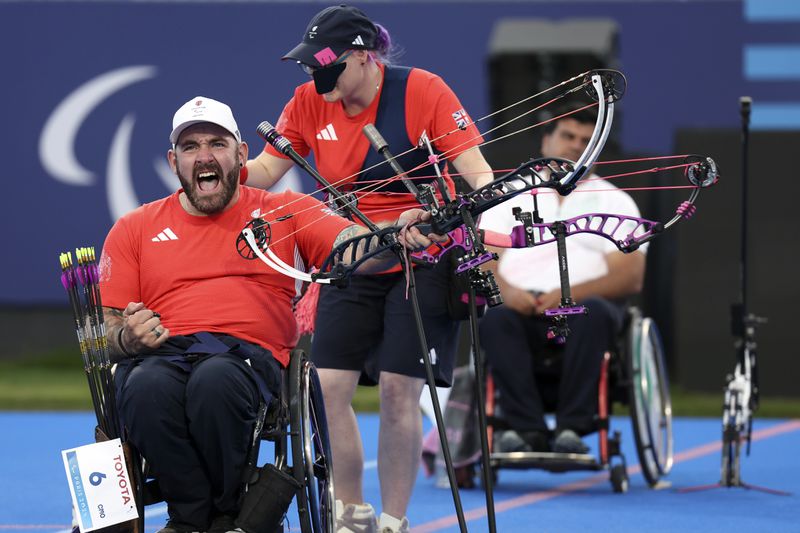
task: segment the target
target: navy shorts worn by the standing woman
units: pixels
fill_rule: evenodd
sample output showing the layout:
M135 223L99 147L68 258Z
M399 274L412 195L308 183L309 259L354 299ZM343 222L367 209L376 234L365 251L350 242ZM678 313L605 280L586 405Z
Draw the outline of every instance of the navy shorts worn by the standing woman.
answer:
M416 268L422 322L439 386L449 386L459 323L447 311L449 262ZM425 379L411 295L398 272L353 276L345 289L323 285L311 360L318 368L357 370L361 383L374 385L380 372Z

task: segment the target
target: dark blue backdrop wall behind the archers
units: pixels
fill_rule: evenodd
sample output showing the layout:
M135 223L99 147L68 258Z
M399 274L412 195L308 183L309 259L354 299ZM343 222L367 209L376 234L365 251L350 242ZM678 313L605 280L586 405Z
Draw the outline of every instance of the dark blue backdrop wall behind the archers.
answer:
M76 245L101 246L121 213L177 188L164 154L172 113L189 98L228 102L252 150L260 150L255 126L274 121L293 88L307 79L279 58L320 7L0 3L7 155L0 303L63 302L57 254ZM496 21L616 20L620 66L629 79L617 127L631 151L669 153L678 126L735 126L737 98L745 92L757 101L776 92L784 103L798 94L797 84L743 78L746 42L792 44L798 27L749 22L738 2L363 7L404 47L401 60L441 74L473 117L489 112L484 73ZM767 26L774 30L756 31ZM303 188L310 190L310 183Z

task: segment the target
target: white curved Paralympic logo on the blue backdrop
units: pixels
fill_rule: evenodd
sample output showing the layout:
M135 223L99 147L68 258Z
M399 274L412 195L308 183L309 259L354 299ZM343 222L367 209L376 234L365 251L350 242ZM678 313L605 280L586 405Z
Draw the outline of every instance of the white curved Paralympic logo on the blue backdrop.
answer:
M85 168L77 159L76 142L79 131L92 112L110 96L136 83L153 79L157 74L158 68L154 65L122 67L95 76L70 92L50 113L39 136L39 160L45 171L57 181L68 185L97 185L102 173ZM187 87L170 98L182 102L194 94L195 91ZM171 123L171 118L165 117L167 126ZM129 110L111 136L105 175L106 200L112 220L117 220L141 205L131 177L130 151L135 124L136 113ZM163 154L154 156L152 161L156 176L166 190L175 191L178 178L169 168ZM279 187L272 190L286 188L298 192L302 190L297 173L287 174L279 182Z

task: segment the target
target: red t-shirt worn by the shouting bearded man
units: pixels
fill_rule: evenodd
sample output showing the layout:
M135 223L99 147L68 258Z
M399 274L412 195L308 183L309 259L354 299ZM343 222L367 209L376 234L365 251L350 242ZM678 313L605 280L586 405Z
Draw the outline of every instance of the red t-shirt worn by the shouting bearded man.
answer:
M100 259L103 305L124 309L143 302L161 314L171 335L233 335L270 350L285 366L296 342L292 298L299 282L241 257L236 238L266 214L270 249L305 270L322 263L352 222L331 216L313 198L245 186L223 213L193 216L181 207L180 192L139 207L111 228Z

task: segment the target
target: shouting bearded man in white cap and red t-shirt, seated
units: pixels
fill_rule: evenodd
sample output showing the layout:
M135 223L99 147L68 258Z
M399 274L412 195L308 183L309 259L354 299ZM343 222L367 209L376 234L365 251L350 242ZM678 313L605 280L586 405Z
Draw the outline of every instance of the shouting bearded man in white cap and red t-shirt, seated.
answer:
M243 259L236 237L270 224L270 249L298 267L366 230L293 192L240 185L247 161L230 108L196 97L175 113L167 157L182 188L128 213L100 261L109 346L131 442L159 480L169 509L161 533L229 531L258 405L279 392L296 338L295 282ZM401 215L415 220L420 210ZM411 228L400 237L431 241ZM349 253L347 254L349 256ZM391 252L365 262L375 272Z

